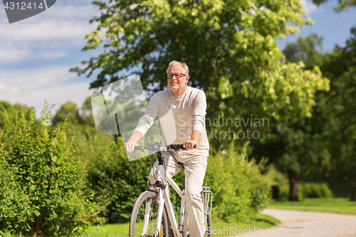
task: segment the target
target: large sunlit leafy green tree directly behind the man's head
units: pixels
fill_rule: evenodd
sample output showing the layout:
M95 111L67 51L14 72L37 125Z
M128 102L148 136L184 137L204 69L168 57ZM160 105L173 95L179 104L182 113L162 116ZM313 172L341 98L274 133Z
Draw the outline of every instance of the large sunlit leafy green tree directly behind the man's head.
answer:
M72 68L90 76L90 88L140 73L145 90L166 85L169 61L190 67L190 85L206 93L208 117L293 119L310 116L315 90L328 80L318 68L281 61L277 37L295 33L304 19L300 1L94 1L100 16L90 22L87 51L103 45L96 58ZM105 31L105 34L103 33ZM220 142L217 145L219 145Z

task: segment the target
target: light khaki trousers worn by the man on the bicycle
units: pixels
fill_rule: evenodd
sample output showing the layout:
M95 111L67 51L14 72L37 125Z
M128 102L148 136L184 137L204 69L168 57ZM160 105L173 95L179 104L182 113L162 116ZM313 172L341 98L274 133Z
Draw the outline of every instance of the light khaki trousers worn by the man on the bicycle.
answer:
M165 176L174 177L182 167L178 164L184 164L185 176L185 196L186 208L188 214L188 226L190 237L204 236L204 209L201 201L201 187L203 186L204 176L206 172L207 159L209 151L202 149L192 149L189 151L174 151L162 152L164 157ZM158 161L154 168L151 169L149 179L151 184L156 181Z

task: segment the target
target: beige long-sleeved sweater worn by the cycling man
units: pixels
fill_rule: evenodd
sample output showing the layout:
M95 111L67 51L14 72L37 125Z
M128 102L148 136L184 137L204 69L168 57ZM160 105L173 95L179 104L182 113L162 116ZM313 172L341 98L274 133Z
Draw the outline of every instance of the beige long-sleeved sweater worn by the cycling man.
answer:
M135 131L145 135L153 125L155 117L159 116L159 125L166 144L182 144L192 138L192 131L198 130L201 136L197 148L209 154L205 115L206 97L203 90L187 86L184 94L177 97L172 95L170 89L161 90L152 96Z

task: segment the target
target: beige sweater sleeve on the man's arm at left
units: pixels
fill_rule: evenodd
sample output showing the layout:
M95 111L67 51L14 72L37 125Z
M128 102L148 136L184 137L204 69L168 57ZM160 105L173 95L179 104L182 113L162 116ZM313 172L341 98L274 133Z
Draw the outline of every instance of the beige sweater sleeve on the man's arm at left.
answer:
M152 127L155 122L155 117L158 115L158 106L156 101L157 95L153 95L150 100L150 104L148 104L145 114L142 115L140 120L137 122L137 126L134 131L138 131L142 133L142 136L145 136L146 132Z

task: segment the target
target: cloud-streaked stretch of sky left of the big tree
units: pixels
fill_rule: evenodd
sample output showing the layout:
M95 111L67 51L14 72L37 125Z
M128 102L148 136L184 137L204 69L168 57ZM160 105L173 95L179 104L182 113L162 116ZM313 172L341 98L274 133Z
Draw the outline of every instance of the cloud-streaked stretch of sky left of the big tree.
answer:
M56 58L80 52L85 35L96 28L89 20L99 13L98 6L88 0L58 0L41 14L9 24L4 8L0 8L0 63L3 68L16 68L0 69L0 100L36 107L36 117L45 99L56 104L53 113L68 100L82 105L94 91L88 89L90 80L69 73L73 65L53 64L58 62ZM28 68L33 59L46 66ZM73 63L70 59L68 64Z

